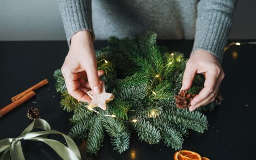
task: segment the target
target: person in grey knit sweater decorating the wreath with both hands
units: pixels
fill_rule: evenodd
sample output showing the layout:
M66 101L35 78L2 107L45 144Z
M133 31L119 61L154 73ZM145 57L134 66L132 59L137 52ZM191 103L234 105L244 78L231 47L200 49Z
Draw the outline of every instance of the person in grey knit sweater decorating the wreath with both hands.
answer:
M95 35L104 40L153 30L159 39L194 38L181 89L191 87L196 73L205 73L205 83L191 101L190 111L215 99L224 78L220 62L236 0L97 0L93 5L90 0L58 0L58 4L70 45L62 73L72 97L90 102L90 88L96 94L101 92L102 73L96 70L93 47ZM81 76L86 76L89 83Z

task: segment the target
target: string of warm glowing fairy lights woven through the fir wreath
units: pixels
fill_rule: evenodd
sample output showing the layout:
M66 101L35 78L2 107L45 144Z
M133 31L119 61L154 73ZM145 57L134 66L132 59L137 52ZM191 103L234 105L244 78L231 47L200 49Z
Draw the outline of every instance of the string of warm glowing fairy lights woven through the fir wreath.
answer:
M256 42L231 42L231 43L229 43L229 44L227 45L227 47L224 48L224 52L225 52L226 50L228 50L231 46L241 46L241 45L243 45L243 44L256 44ZM162 70L163 70L164 68L169 67L170 65L172 65L174 61L177 61L177 62L180 62L180 61L181 61L180 58L178 58L178 59L176 59L176 60L174 59L174 55L175 55L174 53L171 53L170 55L173 57L173 59L172 59L173 61L170 61L169 63L167 63L166 66L164 66L163 68L161 68L159 74L153 75L154 78L153 78L153 80L152 80L152 82L151 82L151 85L150 85L150 91L151 91L151 93L153 93L153 94L155 95L156 105L157 105L157 94L156 94L156 92L153 91L153 89L152 89L152 88L153 88L152 86L153 86L153 84L154 84L154 81L155 81L156 79L161 80L161 72L162 72ZM104 62L106 63L106 65L109 65L109 62L108 62L106 59L102 59L102 60L100 60L100 61L97 61L97 63L102 62L102 61L104 61ZM79 102L80 102L80 101L78 101L78 103L79 103ZM93 112L97 113L97 114L101 114L100 112L94 110L92 107L87 107L87 106L86 106L86 108L87 108L88 110L90 110L90 111L93 111ZM123 120L123 119L117 117L115 114L102 114L102 116L118 118L118 119L121 120L121 121L132 122L132 123L136 123L136 122L138 121L137 119ZM156 117L156 116L157 116L157 111L155 111L155 110L151 111L149 117Z

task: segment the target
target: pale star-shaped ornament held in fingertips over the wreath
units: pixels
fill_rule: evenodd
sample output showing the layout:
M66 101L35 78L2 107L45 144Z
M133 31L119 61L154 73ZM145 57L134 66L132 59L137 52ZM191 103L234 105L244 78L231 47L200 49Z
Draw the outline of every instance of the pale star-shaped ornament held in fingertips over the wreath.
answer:
M87 94L92 98L88 108L100 107L102 110L106 110L106 104L114 99L114 94L107 93L104 84L102 84L102 92L100 94L94 94L93 91L88 91Z

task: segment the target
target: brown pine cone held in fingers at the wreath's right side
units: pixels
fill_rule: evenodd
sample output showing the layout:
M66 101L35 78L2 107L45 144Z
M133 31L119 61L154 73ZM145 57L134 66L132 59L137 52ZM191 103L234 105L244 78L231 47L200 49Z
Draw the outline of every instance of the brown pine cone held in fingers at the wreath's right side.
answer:
M181 90L178 95L174 95L176 100L176 106L181 109L190 107L191 100L196 97L197 94L186 93L186 91Z

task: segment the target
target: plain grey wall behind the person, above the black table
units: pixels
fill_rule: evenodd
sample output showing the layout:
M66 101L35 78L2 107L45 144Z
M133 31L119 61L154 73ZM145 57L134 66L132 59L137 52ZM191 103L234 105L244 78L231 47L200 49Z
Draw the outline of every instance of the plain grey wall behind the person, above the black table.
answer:
M255 6L254 0L239 1L230 39L256 38ZM0 1L0 41L65 39L56 0Z

